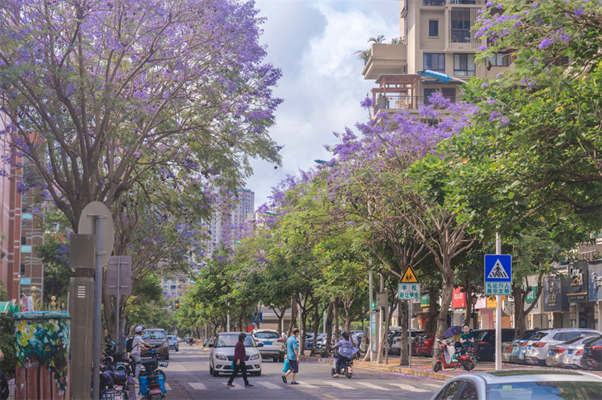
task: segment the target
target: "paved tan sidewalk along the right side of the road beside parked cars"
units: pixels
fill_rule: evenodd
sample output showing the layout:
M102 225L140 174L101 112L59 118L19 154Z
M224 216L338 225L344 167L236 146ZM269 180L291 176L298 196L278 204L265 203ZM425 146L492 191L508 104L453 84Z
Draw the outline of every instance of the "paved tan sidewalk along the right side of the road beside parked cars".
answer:
M314 361L317 363L332 363L330 358L320 358L320 357L310 357L309 355L300 356L302 360ZM387 372L397 372L401 374L414 375L418 377L431 378L433 380L441 380L446 381L450 378L455 377L456 375L461 375L467 373L465 370L458 368L456 370L441 370L440 372L433 372L433 360L432 358L426 357L412 357L411 358L411 368L406 366L399 366L399 357L389 357L389 364L385 365L370 363L370 361L353 361L353 365L358 368L367 369L367 370L379 370L379 371L387 371ZM504 370L521 370L521 369L540 369L540 370L550 370L555 368L548 367L535 367L533 365L520 365L520 364L509 364L503 363L502 368ZM474 372L484 372L484 371L493 371L495 370L495 363L490 361L481 361L477 363L477 367L475 367ZM602 377L602 372L594 372L594 371L586 371L598 375Z

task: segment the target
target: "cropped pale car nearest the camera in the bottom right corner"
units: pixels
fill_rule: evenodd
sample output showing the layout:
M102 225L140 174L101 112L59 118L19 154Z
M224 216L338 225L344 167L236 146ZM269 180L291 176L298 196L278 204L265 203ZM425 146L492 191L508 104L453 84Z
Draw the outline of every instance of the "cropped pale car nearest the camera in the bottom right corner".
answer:
M500 370L453 377L431 400L589 400L601 393L602 378L587 372Z

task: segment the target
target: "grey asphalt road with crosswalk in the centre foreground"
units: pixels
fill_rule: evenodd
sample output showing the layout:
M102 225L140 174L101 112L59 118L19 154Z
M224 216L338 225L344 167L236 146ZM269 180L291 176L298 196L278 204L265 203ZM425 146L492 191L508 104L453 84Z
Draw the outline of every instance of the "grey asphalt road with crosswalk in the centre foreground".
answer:
M227 375L209 375L209 351L181 343L179 352L170 351L166 373L166 400L244 399L244 400L360 400L360 399L431 399L441 382L411 375L369 371L356 368L351 379L330 376L331 365L301 362L297 381L283 384L282 363L263 362L261 377L249 377L254 387L245 388L242 377L234 380L235 387L227 387ZM290 377L289 380L290 382Z

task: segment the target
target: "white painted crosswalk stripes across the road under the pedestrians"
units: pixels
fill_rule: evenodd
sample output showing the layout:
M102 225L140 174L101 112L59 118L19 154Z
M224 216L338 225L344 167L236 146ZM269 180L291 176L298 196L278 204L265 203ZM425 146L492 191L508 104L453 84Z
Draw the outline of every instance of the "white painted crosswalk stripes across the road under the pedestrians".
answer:
M221 387L221 385L223 387L225 387L225 389L229 389L229 390L252 390L253 388L246 388L244 387L244 384L242 382L242 380L239 380L239 382L234 382L234 387L228 387L226 385L226 381L215 381L215 384L217 384L217 387ZM288 389L288 388L293 388L290 386L290 384L285 385L283 384L282 381L280 380L267 380L267 379L261 379L261 378L256 378L254 380L251 380L251 384L254 384L255 386L259 386L259 387L265 387L266 389ZM190 382L188 383L188 386L191 387L191 389L193 390L207 390L209 389L207 387L207 385L201 383L201 382ZM212 384L212 389L215 389L216 387L214 387L214 385ZM421 383L420 387L413 385L413 384L404 384L404 383L399 383L399 382L385 382L385 381L380 381L378 383L372 383L372 382L364 382L363 380L321 380L321 381L314 381L311 380L309 382L306 381L302 381L299 380L299 385L294 386L295 389L309 389L309 390L322 390L322 389L326 389L326 388L331 388L331 389L341 389L341 390L345 390L345 391L352 391L352 390L356 390L356 389L373 389L373 390L380 390L382 392L391 392L391 391L398 391L399 389L407 391L407 392L416 392L416 393L427 393L427 392L435 392L436 389L438 389L439 387L441 387L441 385L439 384L431 384L431 383ZM169 387L169 383L165 384L165 389L167 391L171 390L171 387Z

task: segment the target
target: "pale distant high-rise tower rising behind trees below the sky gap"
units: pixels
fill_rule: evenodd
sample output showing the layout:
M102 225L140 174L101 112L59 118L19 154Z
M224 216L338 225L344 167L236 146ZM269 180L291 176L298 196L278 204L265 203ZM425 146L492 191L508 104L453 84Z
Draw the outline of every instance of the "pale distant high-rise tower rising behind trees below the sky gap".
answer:
M210 221L211 237L207 242L210 255L222 243L236 240L246 221L255 218L255 193L249 189L239 189L238 199L232 199L233 207L229 213L216 213Z

